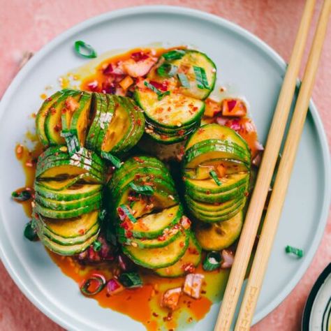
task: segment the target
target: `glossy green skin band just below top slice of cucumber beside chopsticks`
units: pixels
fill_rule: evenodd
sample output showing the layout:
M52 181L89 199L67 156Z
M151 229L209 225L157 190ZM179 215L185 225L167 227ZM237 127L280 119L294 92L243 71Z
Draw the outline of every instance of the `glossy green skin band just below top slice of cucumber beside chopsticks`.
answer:
M248 165L251 161L251 156L244 153L244 151L239 146L236 147L233 144L225 144L223 142L220 142L220 140L205 140L205 142L203 143L198 142L196 145L193 145L185 152L183 158L183 167L190 168L189 163L191 163L198 156L206 154L208 152L226 153L228 154L228 156L224 157L224 159L231 158L247 163ZM218 157L217 159L221 158Z

